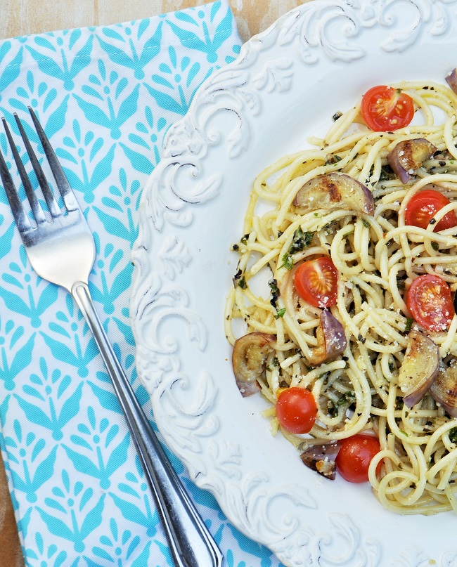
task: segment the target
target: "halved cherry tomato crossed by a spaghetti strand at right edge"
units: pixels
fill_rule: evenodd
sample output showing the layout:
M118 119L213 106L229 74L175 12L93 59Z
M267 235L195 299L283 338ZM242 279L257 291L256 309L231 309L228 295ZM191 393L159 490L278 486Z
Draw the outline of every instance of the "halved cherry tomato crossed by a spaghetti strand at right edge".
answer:
M437 214L438 211L441 211L441 209L449 203L449 199L444 197L439 191L432 189L419 191L419 193L411 197L411 200L406 205L405 222L406 224L418 226L419 228L427 228L432 216ZM454 211L449 211L449 213L445 214L441 221L436 224L433 230L436 233L437 230L444 230L452 226L457 226L457 217Z

